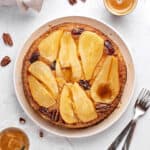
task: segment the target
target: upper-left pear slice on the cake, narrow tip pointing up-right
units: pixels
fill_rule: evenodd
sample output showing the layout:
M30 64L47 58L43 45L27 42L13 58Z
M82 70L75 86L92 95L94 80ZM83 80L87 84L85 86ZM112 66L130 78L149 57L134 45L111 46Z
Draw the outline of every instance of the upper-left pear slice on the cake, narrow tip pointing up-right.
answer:
M56 60L62 34L62 30L54 31L40 42L38 49L42 57L47 58L51 62Z

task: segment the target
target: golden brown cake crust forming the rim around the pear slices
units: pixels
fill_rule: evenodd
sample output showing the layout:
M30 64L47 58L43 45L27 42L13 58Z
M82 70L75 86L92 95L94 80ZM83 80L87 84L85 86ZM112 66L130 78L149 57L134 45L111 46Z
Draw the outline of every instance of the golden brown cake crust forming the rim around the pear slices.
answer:
M66 31L72 31L72 29L75 28L82 28L84 29L84 31L92 31L97 33L99 36L101 36L104 40L109 40L111 41L113 48L115 50L115 53L113 54L115 57L118 58L119 60L119 81L120 81L120 92L118 94L118 96L115 98L115 100L111 103L111 104L102 104L102 103L94 103L94 106L96 108L98 117L95 120L92 120L90 122L78 122L78 123L74 123L74 124L67 124L63 121L60 112L59 112L59 104L56 104L50 108L44 108L39 106L36 101L33 99L30 89L29 89L29 84L28 84L28 67L30 66L30 58L31 55L33 54L33 52L37 51L37 47L40 43L41 40L43 40L45 37L47 37L52 31L57 30L57 29L63 29ZM74 39L76 40L78 37L74 36ZM103 61L103 59L105 58L106 54L103 54L103 58L101 60L101 62ZM45 60L44 58L42 58L41 56L39 57L40 60L44 61L45 63L49 64L49 62L47 60ZM101 67L100 64L101 62L97 65L97 67ZM127 69L126 69L126 64L125 61L123 59L122 54L120 53L120 50L118 48L118 46L106 35L104 35L101 31L89 26L89 25L84 25L84 24L76 24L76 23L64 23L64 24L60 24L57 26L50 26L49 30L44 33L43 35L41 35L37 40L35 40L33 42L33 44L31 45L31 47L29 48L26 56L24 57L24 61L23 61L23 67L22 67L22 82L23 82L23 88L24 88L24 93L25 96L29 102L29 104L31 105L31 107L46 121L49 121L52 124L55 124L57 126L61 126L61 127L66 127L66 128L85 128L85 127L89 127L92 126L94 124L97 124L101 121L103 121L105 118L107 118L115 109L117 109L123 91L124 91L124 86L126 83L126 79L127 79ZM52 118L52 114L55 114L55 118Z

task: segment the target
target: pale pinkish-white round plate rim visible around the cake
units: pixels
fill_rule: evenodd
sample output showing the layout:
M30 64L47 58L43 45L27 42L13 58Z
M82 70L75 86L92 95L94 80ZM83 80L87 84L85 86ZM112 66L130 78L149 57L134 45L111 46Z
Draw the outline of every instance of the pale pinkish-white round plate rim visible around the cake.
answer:
M30 107L28 101L25 98L23 86L22 86L22 77L21 77L21 70L22 70L22 63L23 58L28 51L31 44L34 42L35 39L37 39L40 35L42 35L44 32L46 32L49 29L49 26L55 26L64 22L74 22L74 23L83 23L87 25L91 25L99 30L101 30L103 33L105 33L107 36L109 36L116 44L119 46L124 59L126 61L127 65L127 82L124 89L123 96L121 98L121 104L120 107L117 108L108 118L106 118L103 122L94 125L89 128L85 129L64 129L56 127L45 120L43 120L33 109ZM55 135L63 136L63 137L70 137L70 138L79 138L79 137L87 137L91 136L97 133L100 133L110 127L113 123L115 123L121 115L125 112L127 109L127 106L131 100L132 93L134 91L134 84L135 84L135 70L134 65L132 61L131 54L129 52L128 47L126 46L125 42L122 40L122 38L119 36L119 34L112 29L110 26L106 25L105 23L102 23L100 21L86 18L86 17L79 17L79 16L71 16L71 17L65 17L65 18L59 18L53 21L50 21L40 27L38 30L36 30L30 38L27 40L27 42L24 44L22 50L20 51L14 68L14 87L15 92L18 98L18 101L20 105L22 106L23 110L26 112L26 114L33 120L37 125L40 126L40 128L43 128L47 130L50 133L53 133Z

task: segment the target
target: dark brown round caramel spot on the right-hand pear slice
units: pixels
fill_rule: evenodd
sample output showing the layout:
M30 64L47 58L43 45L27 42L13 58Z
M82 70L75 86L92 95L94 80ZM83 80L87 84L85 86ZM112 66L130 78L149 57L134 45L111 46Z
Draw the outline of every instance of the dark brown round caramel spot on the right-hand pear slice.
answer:
M97 89L97 94L102 99L110 98L112 96L112 90L110 89L109 84L102 84Z

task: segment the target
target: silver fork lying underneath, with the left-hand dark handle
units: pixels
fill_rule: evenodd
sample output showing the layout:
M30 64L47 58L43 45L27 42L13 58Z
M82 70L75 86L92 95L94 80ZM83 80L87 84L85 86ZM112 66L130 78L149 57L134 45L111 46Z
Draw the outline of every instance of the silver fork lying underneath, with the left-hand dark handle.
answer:
M140 94L137 97L135 106L143 100L150 96L150 91L147 89L142 89ZM136 107L135 107L136 108ZM135 112L135 111L134 111ZM135 113L134 113L135 114ZM137 114L136 114L137 115ZM134 118L126 125L122 132L115 138L114 142L108 147L108 150L116 150L121 141L124 139L126 133L129 131L130 127L134 124Z

